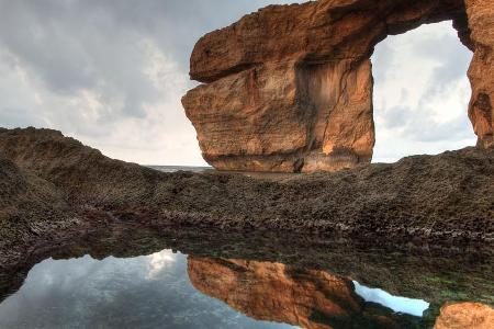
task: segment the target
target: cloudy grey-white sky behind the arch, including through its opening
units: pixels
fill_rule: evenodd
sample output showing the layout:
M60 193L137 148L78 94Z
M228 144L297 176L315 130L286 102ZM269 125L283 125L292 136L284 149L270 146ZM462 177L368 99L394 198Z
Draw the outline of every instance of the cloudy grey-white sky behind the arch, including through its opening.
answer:
M290 0L0 0L0 126L61 131L142 164L204 166L180 99L203 34ZM450 22L372 56L374 161L474 145L471 52Z

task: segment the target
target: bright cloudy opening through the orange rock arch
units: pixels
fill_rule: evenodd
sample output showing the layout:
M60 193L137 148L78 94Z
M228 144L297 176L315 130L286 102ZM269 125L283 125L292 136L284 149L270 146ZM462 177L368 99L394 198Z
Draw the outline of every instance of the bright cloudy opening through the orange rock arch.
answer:
M374 162L475 145L468 117L472 57L451 21L388 36L375 46Z

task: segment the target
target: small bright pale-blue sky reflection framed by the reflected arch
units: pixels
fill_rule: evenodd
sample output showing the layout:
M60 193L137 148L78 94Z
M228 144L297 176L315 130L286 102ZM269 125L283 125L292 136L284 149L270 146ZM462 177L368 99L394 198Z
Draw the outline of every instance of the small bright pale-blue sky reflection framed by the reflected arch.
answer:
M429 303L422 299L412 299L405 297L393 296L382 290L370 288L360 285L353 281L355 292L361 296L366 302L373 302L384 305L396 313L409 314L422 317L424 311L429 308Z

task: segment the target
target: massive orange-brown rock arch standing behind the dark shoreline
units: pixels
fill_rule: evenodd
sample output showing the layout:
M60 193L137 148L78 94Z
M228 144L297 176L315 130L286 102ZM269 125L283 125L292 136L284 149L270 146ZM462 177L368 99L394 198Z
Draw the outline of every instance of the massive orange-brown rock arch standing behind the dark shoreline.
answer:
M491 147L494 8L478 0L321 0L271 5L202 37L182 99L204 159L221 170L337 170L369 162L374 145L374 46L452 20L474 52L469 114Z

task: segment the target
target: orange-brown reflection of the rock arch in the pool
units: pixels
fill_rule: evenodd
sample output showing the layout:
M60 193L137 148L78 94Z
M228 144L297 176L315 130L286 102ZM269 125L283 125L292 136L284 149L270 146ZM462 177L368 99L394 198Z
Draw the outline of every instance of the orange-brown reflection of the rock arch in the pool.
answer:
M419 318L359 297L348 279L282 263L189 257L193 286L257 320L302 328L415 328ZM360 326L359 326L360 325Z

